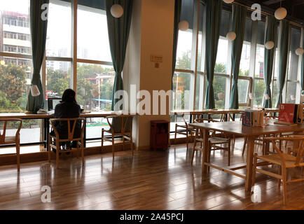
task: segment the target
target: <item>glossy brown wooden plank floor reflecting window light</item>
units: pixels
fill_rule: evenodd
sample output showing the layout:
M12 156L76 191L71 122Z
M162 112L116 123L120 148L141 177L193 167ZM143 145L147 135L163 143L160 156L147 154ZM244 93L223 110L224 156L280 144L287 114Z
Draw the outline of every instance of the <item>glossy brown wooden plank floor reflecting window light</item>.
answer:
M242 139L237 139L231 164L244 162ZM130 151L88 156L81 160L54 161L0 167L0 209L304 209L304 183L288 185L287 206L277 180L257 174L261 202L251 202L244 180L210 169L201 174L201 153L191 166L192 145L167 151ZM226 152L212 153L211 160L226 165ZM277 167L265 167L277 169ZM240 171L244 173L243 171ZM290 172L302 175L302 171ZM299 174L298 174L299 173ZM51 202L41 202L41 187L50 186Z

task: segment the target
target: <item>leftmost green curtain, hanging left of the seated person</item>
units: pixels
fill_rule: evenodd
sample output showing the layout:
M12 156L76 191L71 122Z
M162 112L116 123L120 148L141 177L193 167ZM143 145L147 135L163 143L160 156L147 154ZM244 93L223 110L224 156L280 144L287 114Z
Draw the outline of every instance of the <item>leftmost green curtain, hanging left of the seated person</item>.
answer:
M48 20L42 20L41 15L45 11L41 6L49 3L49 0L31 0L30 1L30 21L32 34L32 57L33 57L33 76L32 85L37 85L40 95L33 97L29 91L27 99L27 111L37 112L44 107L44 94L40 77L41 65L43 62L44 51L46 50L46 30Z

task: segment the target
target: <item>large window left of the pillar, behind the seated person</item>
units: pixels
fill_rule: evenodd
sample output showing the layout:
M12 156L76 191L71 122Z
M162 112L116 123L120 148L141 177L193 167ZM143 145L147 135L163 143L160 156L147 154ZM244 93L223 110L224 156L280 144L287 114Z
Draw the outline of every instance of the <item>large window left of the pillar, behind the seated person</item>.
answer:
M84 109L109 111L114 72L105 4L104 1L98 4L83 2L85 6L79 3L77 13L73 14L73 0L50 0L46 60L41 69L46 102L48 97L62 97L64 90L74 88L77 101ZM76 23L73 23L74 19ZM0 113L22 112L27 105L32 80L29 0L2 0L0 21ZM74 32L76 28L77 33ZM77 46L74 46L74 37ZM76 57L74 47L77 47ZM95 129L104 125L106 122L98 119L88 121L88 127ZM40 127L40 120L25 120L22 133L31 128L34 134L22 134L21 143L41 141ZM96 137L92 133L88 132L89 138Z

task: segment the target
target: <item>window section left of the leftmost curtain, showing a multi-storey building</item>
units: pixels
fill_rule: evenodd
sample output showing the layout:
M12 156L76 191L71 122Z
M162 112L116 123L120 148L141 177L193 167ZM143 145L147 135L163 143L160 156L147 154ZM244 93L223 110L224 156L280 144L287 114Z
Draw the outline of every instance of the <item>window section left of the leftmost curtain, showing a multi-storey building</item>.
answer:
M0 112L20 112L32 74L29 1L1 1L0 21Z

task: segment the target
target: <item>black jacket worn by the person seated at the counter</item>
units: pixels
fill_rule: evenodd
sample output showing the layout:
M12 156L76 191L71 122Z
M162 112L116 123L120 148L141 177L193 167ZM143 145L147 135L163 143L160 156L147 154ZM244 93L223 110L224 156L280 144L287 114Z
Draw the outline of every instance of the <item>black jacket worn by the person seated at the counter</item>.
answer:
M55 118L79 118L81 114L81 107L75 102L62 102L55 106ZM61 121L54 123L56 130L60 135L60 139L67 139L68 125L67 122ZM72 130L74 122L70 124ZM76 123L74 138L81 136L81 122Z

